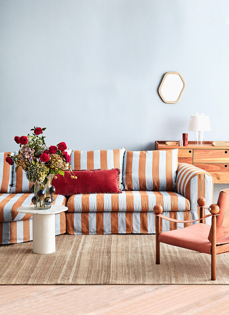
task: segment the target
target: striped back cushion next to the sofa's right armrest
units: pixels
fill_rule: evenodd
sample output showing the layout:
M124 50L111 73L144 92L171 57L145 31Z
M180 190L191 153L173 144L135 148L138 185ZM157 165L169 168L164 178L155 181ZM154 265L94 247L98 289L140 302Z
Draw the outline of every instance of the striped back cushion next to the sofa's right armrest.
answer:
M123 165L125 190L175 191L178 149L126 151Z

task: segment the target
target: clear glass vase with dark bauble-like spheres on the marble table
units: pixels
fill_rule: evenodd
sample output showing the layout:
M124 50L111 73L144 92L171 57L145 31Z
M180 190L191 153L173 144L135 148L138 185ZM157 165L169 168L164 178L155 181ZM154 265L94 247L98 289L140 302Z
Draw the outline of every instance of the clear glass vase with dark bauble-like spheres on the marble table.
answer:
M35 209L50 209L54 201L54 193L56 192L54 186L52 186L52 179L54 175L47 176L47 182L36 182L31 187L31 192L34 192L32 203Z

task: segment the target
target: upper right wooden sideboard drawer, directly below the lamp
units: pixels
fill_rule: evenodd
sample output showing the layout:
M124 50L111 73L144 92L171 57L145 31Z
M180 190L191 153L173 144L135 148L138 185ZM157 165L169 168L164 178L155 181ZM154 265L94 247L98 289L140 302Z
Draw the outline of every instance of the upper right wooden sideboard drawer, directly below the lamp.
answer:
M229 149L194 149L193 163L229 163Z

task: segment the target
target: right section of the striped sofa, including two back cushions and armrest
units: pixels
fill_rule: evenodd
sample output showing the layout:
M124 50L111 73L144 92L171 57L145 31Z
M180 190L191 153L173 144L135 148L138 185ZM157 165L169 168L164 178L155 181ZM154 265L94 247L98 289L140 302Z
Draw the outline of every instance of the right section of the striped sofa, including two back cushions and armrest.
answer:
M197 219L197 199L205 197L207 205L212 203L213 179L193 165L178 164L177 153L178 150L125 152L125 148L116 152L73 150L72 169L120 168L122 193L70 196L67 233L155 233L155 204L161 204L163 214L171 218ZM161 224L163 232L184 227L183 223L166 220Z

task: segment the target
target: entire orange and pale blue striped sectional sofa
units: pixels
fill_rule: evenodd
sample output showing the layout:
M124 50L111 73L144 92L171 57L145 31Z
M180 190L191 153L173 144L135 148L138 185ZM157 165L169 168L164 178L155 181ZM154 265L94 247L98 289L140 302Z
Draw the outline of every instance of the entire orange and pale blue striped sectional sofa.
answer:
M17 212L18 207L31 204L31 183L22 169L16 173L15 164L5 162L8 153L14 154L0 153L0 244L32 240L31 215ZM177 150L71 150L70 156L72 169L119 168L122 193L55 195L54 204L68 207L66 214L56 215L56 235L155 233L156 203L163 206L164 215L178 220L198 218L199 197L205 197L207 205L212 203L211 175L193 165L178 164ZM162 231L184 227L165 220L161 224Z

